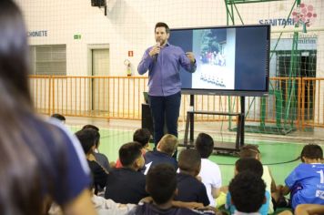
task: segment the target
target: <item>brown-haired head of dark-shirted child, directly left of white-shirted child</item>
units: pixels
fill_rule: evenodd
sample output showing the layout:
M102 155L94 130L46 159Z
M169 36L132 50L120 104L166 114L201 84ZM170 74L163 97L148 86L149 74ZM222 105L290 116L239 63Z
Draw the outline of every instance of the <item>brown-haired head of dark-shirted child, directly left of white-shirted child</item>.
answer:
M184 149L178 157L178 167L180 171L187 171L197 176L200 171L201 157L195 149Z

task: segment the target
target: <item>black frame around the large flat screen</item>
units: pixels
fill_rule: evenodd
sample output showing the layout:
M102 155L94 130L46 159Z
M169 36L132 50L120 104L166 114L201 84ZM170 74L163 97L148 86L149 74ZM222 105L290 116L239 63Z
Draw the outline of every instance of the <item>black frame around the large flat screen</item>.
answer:
M268 96L269 84L269 50L270 50L270 25L244 25L244 26L202 26L202 27L187 27L187 28L172 28L170 29L170 37L172 32L178 30L203 30L203 29L217 29L217 28L240 28L240 27L267 27L268 44L266 46L266 88L265 90L239 90L239 89L217 89L217 88L181 88L181 93L185 95L217 95L217 96L239 96L239 97L264 97ZM177 46L177 44L173 44Z

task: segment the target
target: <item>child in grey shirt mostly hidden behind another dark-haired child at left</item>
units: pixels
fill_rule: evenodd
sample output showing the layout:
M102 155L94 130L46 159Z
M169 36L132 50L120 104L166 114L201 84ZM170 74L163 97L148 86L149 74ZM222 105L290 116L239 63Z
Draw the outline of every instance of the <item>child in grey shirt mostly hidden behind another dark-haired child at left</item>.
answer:
M105 154L99 152L99 146L100 146L99 128L97 128L94 125L87 124L82 129L86 129L86 128L96 130L96 142L95 142L94 156L96 158L96 162L98 162L104 169L106 169L106 171L109 171L110 170L109 159L106 157Z

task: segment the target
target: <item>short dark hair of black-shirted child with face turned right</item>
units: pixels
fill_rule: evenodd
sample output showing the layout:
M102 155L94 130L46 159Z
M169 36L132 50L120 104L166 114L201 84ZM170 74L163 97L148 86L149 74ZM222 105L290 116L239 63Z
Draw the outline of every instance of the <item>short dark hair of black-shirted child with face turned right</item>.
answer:
M119 160L124 167L131 166L142 154L142 146L137 142L129 142L119 148Z

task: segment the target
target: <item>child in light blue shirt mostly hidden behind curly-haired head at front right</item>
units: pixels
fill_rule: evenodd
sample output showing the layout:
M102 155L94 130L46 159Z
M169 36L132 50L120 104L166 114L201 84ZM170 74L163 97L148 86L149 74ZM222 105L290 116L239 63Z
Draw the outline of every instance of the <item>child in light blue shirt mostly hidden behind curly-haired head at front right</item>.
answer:
M250 171L253 174L255 174L257 177L259 177L261 179L262 174L263 174L263 168L262 168L262 164L260 161L258 161L258 159L238 159L237 162L235 163L235 175L237 175L238 173L242 172L242 171ZM258 212L261 215L267 215L268 214L268 204L270 201L270 193L266 190L263 193L264 196L264 202L261 205L261 207L259 208ZM233 214L236 210L235 206L231 203L231 192L228 191L227 194L227 201L226 201L226 205L225 205L226 209L230 211L231 214Z

